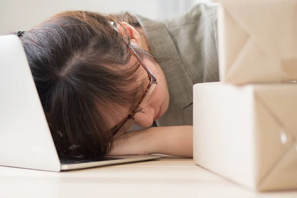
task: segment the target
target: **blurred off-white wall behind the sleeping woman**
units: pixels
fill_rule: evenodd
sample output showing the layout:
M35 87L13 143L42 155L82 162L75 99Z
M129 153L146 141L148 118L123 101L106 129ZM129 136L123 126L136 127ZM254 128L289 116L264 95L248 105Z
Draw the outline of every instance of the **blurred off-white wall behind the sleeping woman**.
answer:
M152 19L170 18L209 0L0 0L0 34L26 31L64 10L132 11Z

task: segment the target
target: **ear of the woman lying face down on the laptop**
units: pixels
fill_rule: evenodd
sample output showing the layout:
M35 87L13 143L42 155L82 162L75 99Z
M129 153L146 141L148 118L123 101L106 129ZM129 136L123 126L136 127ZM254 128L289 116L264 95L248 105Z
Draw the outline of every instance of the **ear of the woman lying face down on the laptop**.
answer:
M118 24L118 31L122 35L128 34L132 45L142 47L141 36L132 25L122 21Z

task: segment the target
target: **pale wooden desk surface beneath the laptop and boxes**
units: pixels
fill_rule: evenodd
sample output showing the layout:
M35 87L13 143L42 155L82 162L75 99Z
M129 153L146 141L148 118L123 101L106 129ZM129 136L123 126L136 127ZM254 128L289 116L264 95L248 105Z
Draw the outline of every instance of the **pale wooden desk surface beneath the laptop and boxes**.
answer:
M197 165L159 160L66 172L0 166L0 198L297 198L297 191L257 194Z

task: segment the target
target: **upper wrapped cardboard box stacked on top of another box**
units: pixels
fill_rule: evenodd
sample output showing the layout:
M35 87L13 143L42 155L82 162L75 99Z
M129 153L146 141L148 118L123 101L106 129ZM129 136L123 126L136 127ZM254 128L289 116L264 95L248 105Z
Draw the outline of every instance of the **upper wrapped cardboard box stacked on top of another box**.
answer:
M214 1L220 81L297 80L297 0Z

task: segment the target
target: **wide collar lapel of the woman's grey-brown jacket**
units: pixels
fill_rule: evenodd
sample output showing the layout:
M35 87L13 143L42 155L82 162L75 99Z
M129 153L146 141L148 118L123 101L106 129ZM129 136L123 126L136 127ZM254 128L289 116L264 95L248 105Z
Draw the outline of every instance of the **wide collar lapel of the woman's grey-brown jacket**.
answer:
M185 65L167 31L166 24L140 15L135 15L135 17L144 29L150 53L164 72L170 105L182 108L188 106L193 102L193 83L186 73Z

